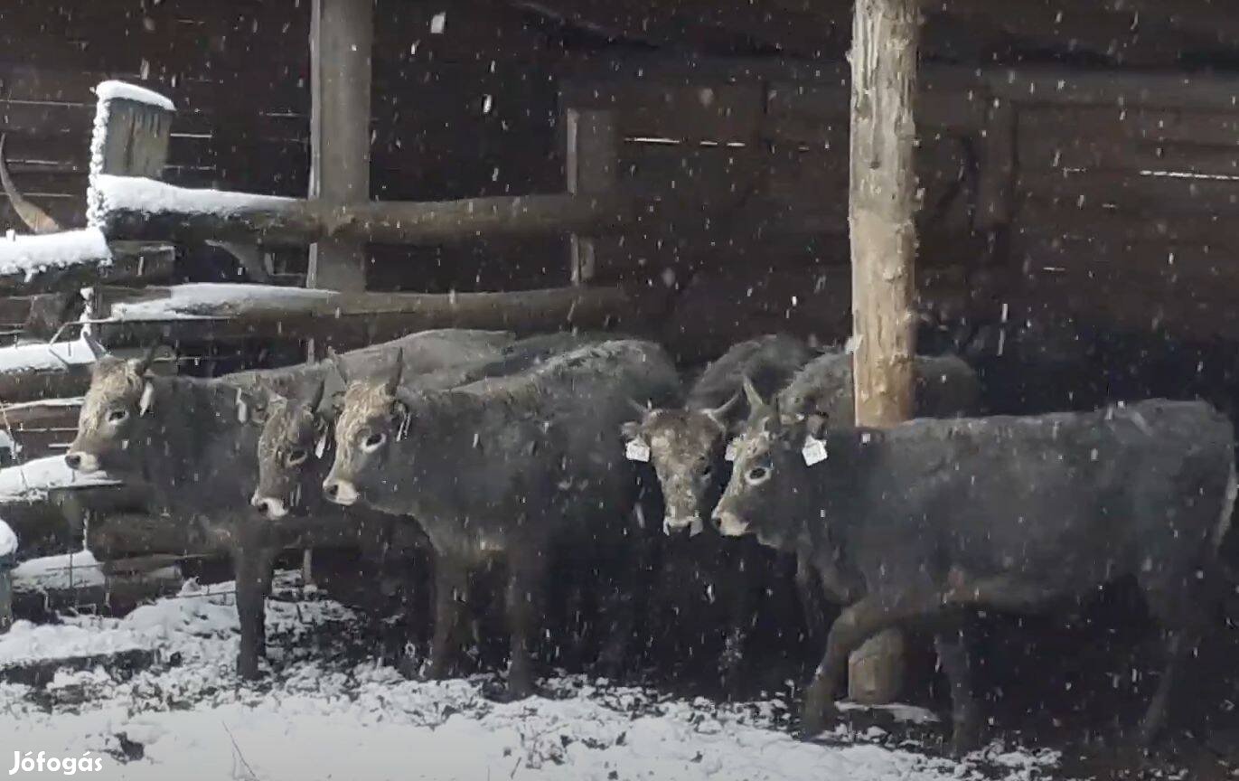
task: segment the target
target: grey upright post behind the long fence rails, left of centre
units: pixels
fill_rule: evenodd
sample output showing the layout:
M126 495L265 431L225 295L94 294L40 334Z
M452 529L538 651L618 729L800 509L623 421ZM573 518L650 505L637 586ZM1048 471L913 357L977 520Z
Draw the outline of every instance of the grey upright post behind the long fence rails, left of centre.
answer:
M310 197L335 206L370 198L370 50L374 0L313 0L310 20ZM366 289L366 244L325 238L310 248L309 288Z

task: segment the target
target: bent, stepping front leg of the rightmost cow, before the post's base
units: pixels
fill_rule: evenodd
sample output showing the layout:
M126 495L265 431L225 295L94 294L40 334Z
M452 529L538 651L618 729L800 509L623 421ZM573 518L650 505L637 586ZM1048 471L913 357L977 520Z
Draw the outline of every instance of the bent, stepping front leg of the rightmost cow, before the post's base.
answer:
M847 657L882 630L912 619L928 619L942 610L942 596L932 589L869 595L846 607L830 625L826 652L804 695L802 734L812 738L838 715L834 693L847 673Z

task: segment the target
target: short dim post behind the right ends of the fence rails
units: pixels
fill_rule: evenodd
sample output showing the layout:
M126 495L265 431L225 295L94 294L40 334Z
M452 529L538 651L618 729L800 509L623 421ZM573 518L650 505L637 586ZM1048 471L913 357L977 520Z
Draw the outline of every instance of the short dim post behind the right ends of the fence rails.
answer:
M618 166L618 133L615 112L567 109L567 191L595 195L612 190ZM584 285L597 269L597 239L572 234L571 278Z

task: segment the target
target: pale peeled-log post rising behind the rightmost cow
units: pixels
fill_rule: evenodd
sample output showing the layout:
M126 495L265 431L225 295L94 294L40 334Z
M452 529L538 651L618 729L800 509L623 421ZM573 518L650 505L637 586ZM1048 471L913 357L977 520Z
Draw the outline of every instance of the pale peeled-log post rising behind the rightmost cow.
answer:
M918 0L856 0L851 48L852 357L856 423L888 426L913 404ZM903 640L883 632L849 663L849 695L898 695Z

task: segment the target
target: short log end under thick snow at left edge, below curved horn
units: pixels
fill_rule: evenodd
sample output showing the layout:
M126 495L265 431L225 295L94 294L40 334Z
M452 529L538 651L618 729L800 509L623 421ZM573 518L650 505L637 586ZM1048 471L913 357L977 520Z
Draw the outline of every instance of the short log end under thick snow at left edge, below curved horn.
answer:
M114 242L97 228L0 238L0 295L76 290L97 283L166 278L171 244Z

